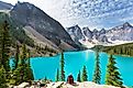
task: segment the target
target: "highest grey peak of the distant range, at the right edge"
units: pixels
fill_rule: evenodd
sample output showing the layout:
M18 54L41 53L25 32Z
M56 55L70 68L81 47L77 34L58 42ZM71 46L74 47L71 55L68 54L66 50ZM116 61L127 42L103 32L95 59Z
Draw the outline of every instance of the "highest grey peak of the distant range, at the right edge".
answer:
M111 41L133 41L133 26L125 22L109 30L106 34Z

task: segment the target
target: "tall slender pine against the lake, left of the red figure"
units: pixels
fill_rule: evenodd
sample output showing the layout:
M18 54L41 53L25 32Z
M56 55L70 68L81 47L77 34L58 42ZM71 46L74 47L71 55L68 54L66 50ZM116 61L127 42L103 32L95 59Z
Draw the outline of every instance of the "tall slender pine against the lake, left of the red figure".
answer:
M60 57L60 80L65 81L65 70L64 70L64 53L62 53L62 57Z

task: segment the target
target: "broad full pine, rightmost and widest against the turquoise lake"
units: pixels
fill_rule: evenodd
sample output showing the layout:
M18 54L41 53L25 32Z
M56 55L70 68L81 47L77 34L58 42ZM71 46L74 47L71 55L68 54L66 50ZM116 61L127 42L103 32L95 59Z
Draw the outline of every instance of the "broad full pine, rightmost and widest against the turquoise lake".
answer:
M106 84L122 88L122 78L115 64L115 58L111 55L107 66Z

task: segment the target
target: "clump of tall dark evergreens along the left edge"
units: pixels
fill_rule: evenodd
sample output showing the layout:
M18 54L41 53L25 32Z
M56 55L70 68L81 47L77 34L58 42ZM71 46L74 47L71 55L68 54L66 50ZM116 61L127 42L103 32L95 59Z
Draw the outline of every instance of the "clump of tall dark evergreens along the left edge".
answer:
M10 26L8 21L4 21L0 24L0 88L8 88L8 85L19 85L34 79L30 66L30 50L25 44L22 45L22 51L16 44L13 65L10 66L11 41Z

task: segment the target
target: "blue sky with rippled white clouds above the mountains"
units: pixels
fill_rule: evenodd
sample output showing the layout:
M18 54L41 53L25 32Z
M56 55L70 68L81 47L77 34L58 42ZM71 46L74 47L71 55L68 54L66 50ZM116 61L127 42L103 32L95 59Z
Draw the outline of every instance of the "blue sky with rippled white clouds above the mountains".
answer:
M18 0L1 0L15 4ZM19 0L30 2L59 21L63 26L111 29L124 22L133 24L133 0Z

